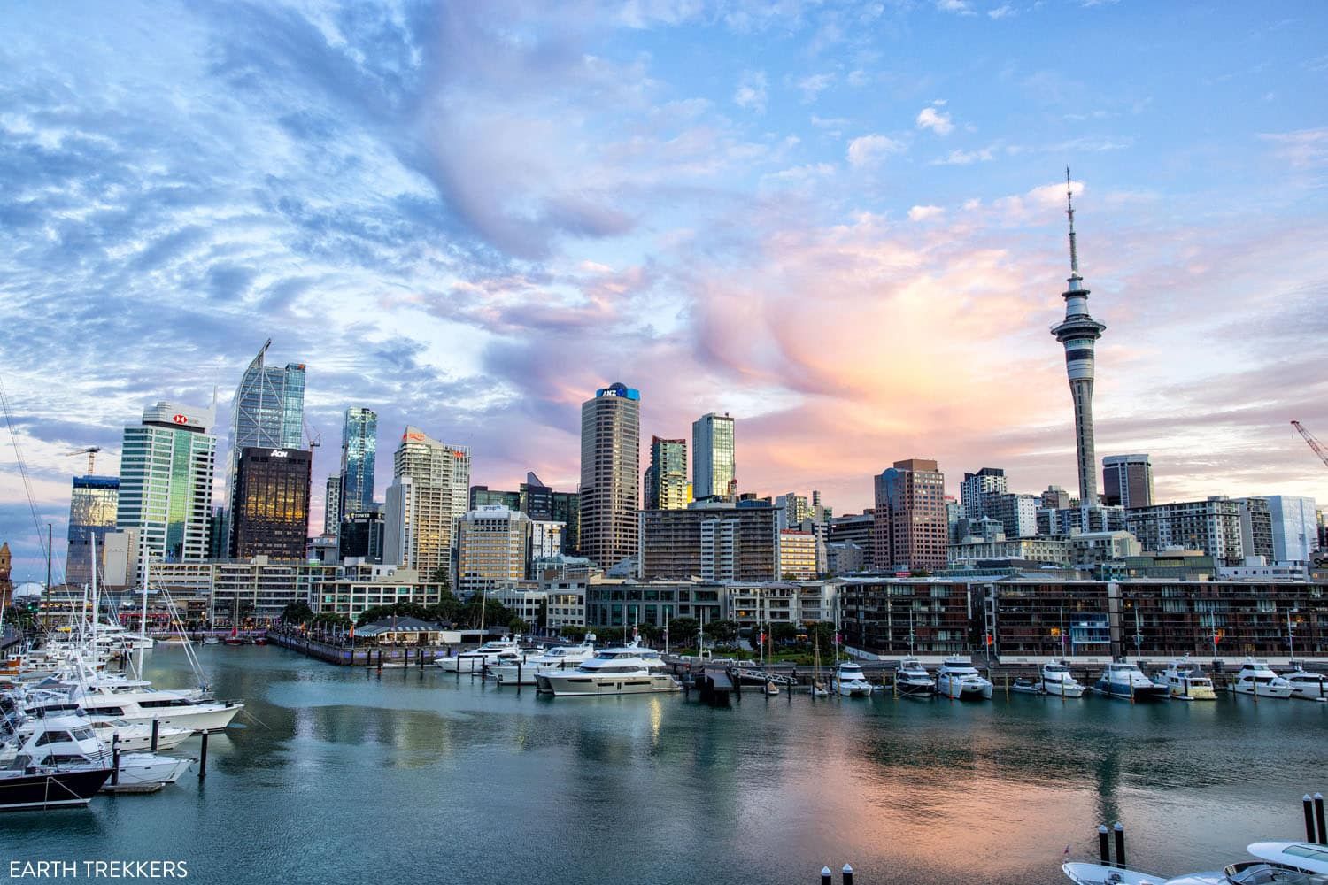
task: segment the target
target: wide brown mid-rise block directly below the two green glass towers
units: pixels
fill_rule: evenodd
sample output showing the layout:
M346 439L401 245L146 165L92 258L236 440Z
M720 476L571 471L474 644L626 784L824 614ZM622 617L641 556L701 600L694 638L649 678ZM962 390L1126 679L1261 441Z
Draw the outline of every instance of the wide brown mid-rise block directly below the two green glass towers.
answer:
M777 511L769 504L697 502L687 510L640 511L640 537L636 576L643 581L781 577Z

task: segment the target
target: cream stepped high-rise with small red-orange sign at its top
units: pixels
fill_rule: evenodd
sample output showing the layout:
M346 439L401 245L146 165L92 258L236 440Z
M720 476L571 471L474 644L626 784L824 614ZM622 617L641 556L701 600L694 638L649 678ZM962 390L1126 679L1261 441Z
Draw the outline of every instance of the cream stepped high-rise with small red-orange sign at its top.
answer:
M456 521L470 490L470 448L406 427L392 462L382 561L413 568L422 579L440 568L450 572Z

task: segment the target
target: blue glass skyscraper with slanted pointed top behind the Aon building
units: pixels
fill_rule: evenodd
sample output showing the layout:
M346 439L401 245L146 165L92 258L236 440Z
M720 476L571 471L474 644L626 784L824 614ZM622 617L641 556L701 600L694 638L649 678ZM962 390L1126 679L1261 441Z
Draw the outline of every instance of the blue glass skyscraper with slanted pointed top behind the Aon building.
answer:
M231 401L230 452L226 467L227 537L235 527L235 470L240 450L300 448L304 443L304 364L288 362L284 369L267 368L263 361L268 338L250 362ZM228 545L234 539L228 541Z

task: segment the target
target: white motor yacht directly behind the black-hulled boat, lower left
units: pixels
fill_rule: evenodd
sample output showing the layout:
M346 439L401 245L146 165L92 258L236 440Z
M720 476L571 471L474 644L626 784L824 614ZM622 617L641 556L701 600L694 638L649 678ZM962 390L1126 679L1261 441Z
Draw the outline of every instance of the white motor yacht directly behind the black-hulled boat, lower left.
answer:
M110 767L114 754L97 739L84 716L49 716L28 719L15 739L0 747L0 766L20 756L35 766L102 770ZM193 759L161 756L149 752L120 754L121 784L173 784L185 774Z

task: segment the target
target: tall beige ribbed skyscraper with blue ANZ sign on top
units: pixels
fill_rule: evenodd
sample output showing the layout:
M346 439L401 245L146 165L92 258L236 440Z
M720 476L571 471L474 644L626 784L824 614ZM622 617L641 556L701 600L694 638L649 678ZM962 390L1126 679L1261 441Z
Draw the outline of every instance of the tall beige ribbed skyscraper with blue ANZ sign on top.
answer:
M582 403L580 552L611 568L637 555L641 394L623 383Z

